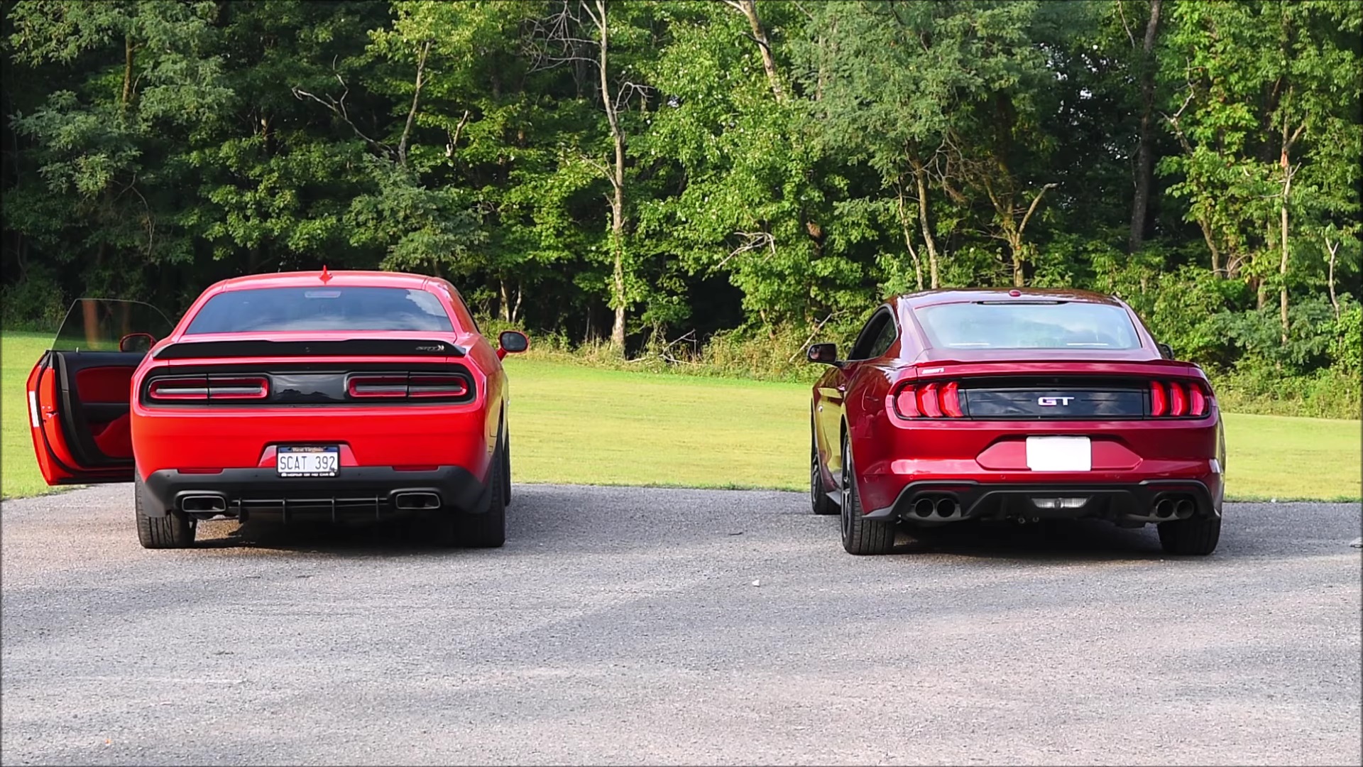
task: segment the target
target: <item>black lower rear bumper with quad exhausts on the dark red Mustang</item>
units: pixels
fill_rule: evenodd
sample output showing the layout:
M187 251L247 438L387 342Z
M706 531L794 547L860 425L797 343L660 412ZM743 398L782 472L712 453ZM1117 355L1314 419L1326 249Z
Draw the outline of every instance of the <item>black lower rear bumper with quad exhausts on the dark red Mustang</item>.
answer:
M1160 523L1219 517L1221 509L1208 486L1197 479L1131 483L921 480L910 482L891 505L866 516L919 523L1007 517Z

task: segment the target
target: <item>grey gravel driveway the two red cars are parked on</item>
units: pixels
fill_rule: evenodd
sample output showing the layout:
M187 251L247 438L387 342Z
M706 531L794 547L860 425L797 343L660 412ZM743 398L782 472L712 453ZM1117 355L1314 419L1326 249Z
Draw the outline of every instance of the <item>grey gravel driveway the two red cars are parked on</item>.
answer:
M502 550L3 508L4 764L1360 763L1359 506L844 554L804 495L518 486Z

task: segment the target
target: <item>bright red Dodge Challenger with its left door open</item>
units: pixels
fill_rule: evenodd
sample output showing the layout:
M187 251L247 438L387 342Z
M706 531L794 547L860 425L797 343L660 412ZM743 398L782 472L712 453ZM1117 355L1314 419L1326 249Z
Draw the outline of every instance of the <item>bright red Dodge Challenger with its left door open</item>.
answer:
M444 280L387 272L240 277L174 328L83 299L29 375L48 484L135 483L138 538L194 543L218 515L435 521L500 546L510 501L507 378Z

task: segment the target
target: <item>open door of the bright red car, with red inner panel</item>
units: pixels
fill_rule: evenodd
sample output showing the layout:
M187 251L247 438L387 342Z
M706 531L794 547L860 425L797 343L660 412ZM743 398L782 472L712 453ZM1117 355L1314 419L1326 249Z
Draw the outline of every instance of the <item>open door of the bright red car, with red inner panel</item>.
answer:
M132 482L132 373L170 333L157 308L79 299L29 374L29 426L48 484Z

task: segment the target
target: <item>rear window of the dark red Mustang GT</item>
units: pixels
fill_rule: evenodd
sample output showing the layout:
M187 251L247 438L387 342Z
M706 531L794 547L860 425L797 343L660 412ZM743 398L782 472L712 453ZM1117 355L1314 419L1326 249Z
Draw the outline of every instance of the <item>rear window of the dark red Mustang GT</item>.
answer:
M1135 349L1126 310L1101 303L946 303L915 310L928 341L949 349Z

